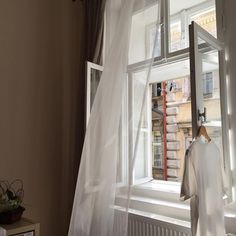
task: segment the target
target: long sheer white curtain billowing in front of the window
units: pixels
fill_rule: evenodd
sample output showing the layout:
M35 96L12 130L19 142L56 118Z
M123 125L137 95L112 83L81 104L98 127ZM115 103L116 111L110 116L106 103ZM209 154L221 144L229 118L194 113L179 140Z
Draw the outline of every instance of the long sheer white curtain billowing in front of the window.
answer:
M74 205L70 222L69 236L125 236L127 235L128 208L131 193L131 180L135 157L138 150L140 127L143 123L144 104L153 59L148 60L147 68L138 79L140 96L135 101L134 145L132 154L123 158L128 166L120 165L119 150L120 120L127 81L128 52L132 16L155 1L147 0L108 0L106 4L106 37L104 71L97 89L90 120L87 127L78 174ZM158 13L156 13L158 14ZM145 13L143 14L145 18ZM156 31L155 40L157 40ZM145 37L145 34L140 36ZM156 45L156 43L153 43ZM154 52L155 50L153 50ZM153 55L152 55L153 58ZM127 127L128 125L127 124ZM122 181L121 181L122 179ZM118 185L117 182L120 182ZM120 187L124 201L119 204L116 197Z

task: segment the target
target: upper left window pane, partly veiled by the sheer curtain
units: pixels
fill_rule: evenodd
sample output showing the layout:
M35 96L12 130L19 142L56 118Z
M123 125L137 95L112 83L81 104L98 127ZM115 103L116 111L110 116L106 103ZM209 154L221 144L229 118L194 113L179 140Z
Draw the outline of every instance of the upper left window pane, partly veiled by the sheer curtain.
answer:
M139 63L152 57L156 29L158 35L155 45L154 56L163 57L163 0L149 1L147 4L138 4L132 17L129 64ZM148 1L147 1L148 2Z

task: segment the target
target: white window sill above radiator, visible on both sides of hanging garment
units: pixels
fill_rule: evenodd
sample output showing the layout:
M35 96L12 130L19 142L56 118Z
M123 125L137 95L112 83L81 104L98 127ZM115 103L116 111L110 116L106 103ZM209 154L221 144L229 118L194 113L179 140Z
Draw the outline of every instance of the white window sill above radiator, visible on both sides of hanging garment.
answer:
M126 203L122 191L117 203L120 206ZM176 182L153 180L133 186L129 213L190 227L189 200L180 200L180 183ZM236 203L225 207L225 221L226 225L236 224Z

